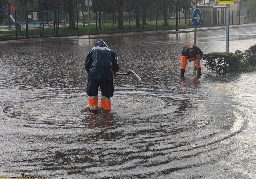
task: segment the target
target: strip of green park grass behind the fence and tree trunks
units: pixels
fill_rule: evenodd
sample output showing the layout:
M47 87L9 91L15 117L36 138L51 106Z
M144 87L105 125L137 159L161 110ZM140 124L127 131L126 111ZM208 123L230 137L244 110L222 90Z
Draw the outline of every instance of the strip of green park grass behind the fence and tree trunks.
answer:
M104 22L102 25L102 28L99 29L96 28L96 22L91 21L89 25L90 35L95 34L110 34L110 33L127 33L127 32L141 32L141 31L154 31L154 30L171 30L176 29L176 20L170 19L169 20L169 26L163 26L163 20L157 20L157 25L155 20L148 20L147 25L140 25L139 28L135 27L135 21L129 22L125 21L123 23L123 29L118 29L118 24L114 24L113 22ZM88 35L88 25L85 24L83 27L83 22L78 22L78 30L69 30L68 26L60 26L58 29L58 36L77 36L77 35ZM77 27L77 22L75 23ZM185 20L180 20L180 27L179 29L184 28L193 28L193 25L190 24L189 26L185 24ZM4 27L0 27L2 29ZM8 27L5 27L8 29ZM12 27L14 30L8 30L8 31L0 31L0 40L7 40L7 39L15 39L15 27ZM40 29L39 28L29 28L29 37L40 36ZM54 27L45 26L44 29L41 27L41 36L54 36ZM21 31L18 31L17 33L18 38L26 38L26 29L21 29Z

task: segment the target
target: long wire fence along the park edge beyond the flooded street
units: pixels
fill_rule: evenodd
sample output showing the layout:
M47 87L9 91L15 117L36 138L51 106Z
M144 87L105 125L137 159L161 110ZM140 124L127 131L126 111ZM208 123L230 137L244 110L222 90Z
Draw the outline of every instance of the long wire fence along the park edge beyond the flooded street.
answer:
M208 26L225 26L226 24L226 8L223 7L199 7L202 20L200 27ZM139 14L139 23L136 23L136 15L134 12L123 12L123 26L119 27L118 13L89 13L89 26L88 14L76 11L75 29L70 29L68 17L63 15L59 17L57 22L56 13L53 11L36 12L37 20L34 18L36 11L29 11L26 16L26 23L11 23L11 28L7 26L0 26L0 38L3 39L16 39L28 38L38 36L72 36L72 35L93 35L93 34L107 34L107 33L127 33L138 31L155 31L155 30L171 30L171 29L184 29L194 28L191 16L193 10L181 11L176 14L175 11L169 11L166 18L162 11L147 11L147 13ZM24 12L26 13L26 12ZM242 24L245 22L247 15L246 10L230 11L230 25ZM16 18L17 18L16 14ZM142 18L145 17L144 21ZM176 19L178 17L178 19ZM61 20L63 22L61 22ZM18 21L17 21L18 22ZM144 23L143 23L144 22ZM16 24L16 25L15 25ZM17 27L17 28L16 28Z

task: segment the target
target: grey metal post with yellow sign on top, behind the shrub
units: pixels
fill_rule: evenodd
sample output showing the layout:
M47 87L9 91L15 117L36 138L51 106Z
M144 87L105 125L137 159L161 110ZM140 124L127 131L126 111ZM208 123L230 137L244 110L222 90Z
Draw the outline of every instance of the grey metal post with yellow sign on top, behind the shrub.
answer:
M237 4L237 0L215 0L215 4L226 4L226 52L229 51L229 4Z

